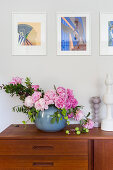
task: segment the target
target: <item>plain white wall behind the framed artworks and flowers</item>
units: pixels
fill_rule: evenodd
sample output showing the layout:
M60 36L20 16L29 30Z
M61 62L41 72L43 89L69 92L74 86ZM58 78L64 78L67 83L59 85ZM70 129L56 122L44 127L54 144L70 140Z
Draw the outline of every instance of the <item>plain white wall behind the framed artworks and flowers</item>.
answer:
M11 55L11 12L47 12L47 56ZM30 76L44 89L64 86L74 89L79 103L90 111L89 99L102 96L106 73L113 72L113 56L99 56L99 12L112 12L112 0L1 0L0 2L0 84L12 76ZM91 14L92 55L56 56L56 12ZM13 113L19 100L0 91L0 131L26 116ZM104 109L105 112L105 109Z

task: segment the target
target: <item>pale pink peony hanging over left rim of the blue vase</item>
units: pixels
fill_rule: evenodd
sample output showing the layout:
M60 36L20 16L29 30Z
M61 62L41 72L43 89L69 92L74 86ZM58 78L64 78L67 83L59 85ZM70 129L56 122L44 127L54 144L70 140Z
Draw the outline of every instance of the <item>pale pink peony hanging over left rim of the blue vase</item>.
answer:
M35 108L36 110L43 111L44 109L48 109L48 105L46 105L45 100L41 98L35 103Z

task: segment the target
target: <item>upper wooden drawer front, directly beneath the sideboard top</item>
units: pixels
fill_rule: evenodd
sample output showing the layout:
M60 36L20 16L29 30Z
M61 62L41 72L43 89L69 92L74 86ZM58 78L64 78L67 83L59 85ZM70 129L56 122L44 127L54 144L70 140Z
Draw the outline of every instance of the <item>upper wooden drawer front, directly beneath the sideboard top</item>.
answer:
M88 155L88 140L1 140L0 155Z

